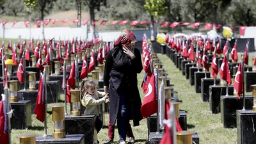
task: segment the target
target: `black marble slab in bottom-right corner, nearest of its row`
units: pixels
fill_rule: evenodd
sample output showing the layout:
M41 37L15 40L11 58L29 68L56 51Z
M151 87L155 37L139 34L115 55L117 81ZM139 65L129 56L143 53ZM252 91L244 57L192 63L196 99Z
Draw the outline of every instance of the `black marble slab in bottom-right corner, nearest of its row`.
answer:
M255 144L256 111L237 110L237 143Z

